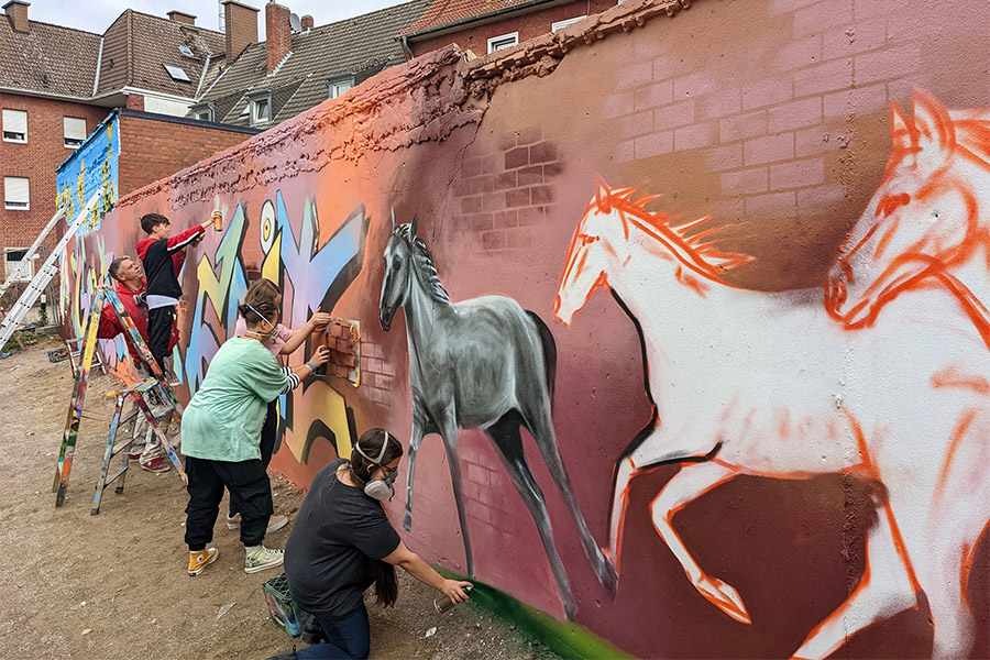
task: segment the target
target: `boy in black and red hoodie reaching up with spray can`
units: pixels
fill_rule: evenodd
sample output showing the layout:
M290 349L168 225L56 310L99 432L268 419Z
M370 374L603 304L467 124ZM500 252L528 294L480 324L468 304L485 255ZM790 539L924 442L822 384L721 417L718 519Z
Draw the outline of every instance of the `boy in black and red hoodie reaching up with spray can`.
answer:
M183 295L178 273L186 261L186 248L202 238L207 227L213 224L213 211L209 220L170 237L172 223L161 213L147 213L141 218L141 229L147 238L138 242L138 256L147 277L147 348L152 356L165 369L165 356L172 353L168 340L175 326L175 307Z

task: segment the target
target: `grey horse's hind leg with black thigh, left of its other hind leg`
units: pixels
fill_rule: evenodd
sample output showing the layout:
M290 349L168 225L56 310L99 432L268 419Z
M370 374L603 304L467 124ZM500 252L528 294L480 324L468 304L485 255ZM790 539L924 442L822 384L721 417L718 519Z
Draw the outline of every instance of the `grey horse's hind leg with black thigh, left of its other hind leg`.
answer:
M560 592L564 613L568 619L573 620L574 615L578 613L578 601L571 591L571 582L568 580L563 561L561 561L557 551L557 544L553 541L553 528L550 526L550 514L547 510L543 493L540 491L540 486L534 479L532 472L530 472L526 462L519 425L512 418L503 418L487 429L487 433L495 442L502 463L513 480L513 485L516 486L519 495L522 496L522 502L526 503L526 507L536 522L540 540L543 542L543 550L547 552L547 559L550 561L550 570L553 572L553 579L557 581L557 590Z

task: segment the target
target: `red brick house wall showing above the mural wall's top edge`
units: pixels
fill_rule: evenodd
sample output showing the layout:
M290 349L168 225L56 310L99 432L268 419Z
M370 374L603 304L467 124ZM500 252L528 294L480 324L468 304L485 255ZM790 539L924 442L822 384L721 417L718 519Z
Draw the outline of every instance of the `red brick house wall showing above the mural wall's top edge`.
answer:
M485 25L469 25L465 30L444 34L442 36L427 37L422 41L410 42L409 48L416 56L442 48L448 44L458 44L461 50L471 51L477 56L487 55L488 40L493 36L519 33L519 43L526 40L547 34L550 26L557 21L565 21L580 15L591 15L615 7L615 0L584 0L568 2L557 7L550 7L522 15L512 15L506 19L487 23Z

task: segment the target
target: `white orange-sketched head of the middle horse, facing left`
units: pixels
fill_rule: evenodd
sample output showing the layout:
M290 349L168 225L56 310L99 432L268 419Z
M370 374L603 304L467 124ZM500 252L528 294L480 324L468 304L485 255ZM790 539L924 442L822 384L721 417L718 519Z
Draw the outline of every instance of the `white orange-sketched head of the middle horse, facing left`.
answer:
M568 265L564 267L553 301L553 316L564 326L570 326L574 315L581 311L592 294L608 280L605 275L609 258L615 256L615 249L603 232L607 233L607 219L614 211L612 195L604 182L598 182L598 189L587 202L584 215L571 239L568 249Z

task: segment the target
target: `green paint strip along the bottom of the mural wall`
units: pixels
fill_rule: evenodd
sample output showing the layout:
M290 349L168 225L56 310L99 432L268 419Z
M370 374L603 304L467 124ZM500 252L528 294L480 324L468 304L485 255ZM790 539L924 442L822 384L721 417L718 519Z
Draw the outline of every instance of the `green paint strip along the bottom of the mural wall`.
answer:
M516 624L562 658L593 660L632 658L587 628L573 622L559 622L549 614L498 591L491 584L458 575L442 566L437 566L437 571L451 580L470 580L474 585L474 588L471 590L471 602L474 605Z

